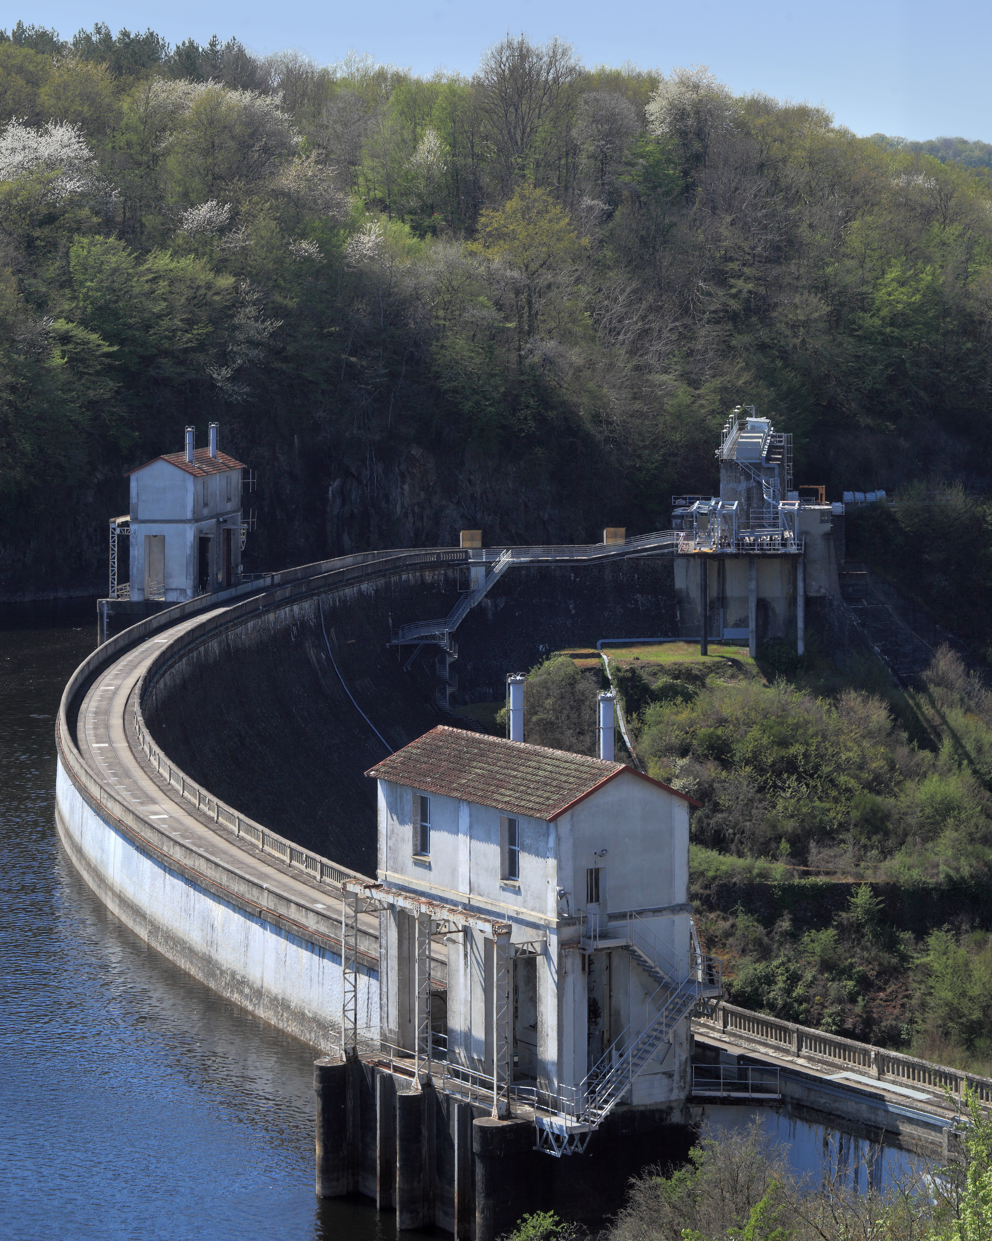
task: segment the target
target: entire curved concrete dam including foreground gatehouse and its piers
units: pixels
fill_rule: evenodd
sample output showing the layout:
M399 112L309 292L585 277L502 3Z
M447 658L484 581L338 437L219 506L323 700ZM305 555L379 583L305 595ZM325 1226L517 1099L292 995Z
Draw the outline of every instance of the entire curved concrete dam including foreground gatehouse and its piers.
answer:
M751 644L760 627L801 642L817 589L804 560L795 535L720 545L698 531L360 553L165 607L77 669L57 721L60 836L136 934L322 1054L319 1194L360 1191L399 1227L475 1241L532 1210L601 1216L631 1173L684 1154L707 1098L739 1092L724 1081L745 1078L724 1069L742 1055L775 1066L774 1087L748 1070L749 1097L811 1112L827 1100L825 1113L857 1113L874 1139L946 1148L942 1096L928 1114L916 1087L960 1093L963 1075L955 1086L934 1066L718 1003L680 861L683 795L559 756L533 768L553 792L538 804L511 787L538 747L506 759L498 747L516 742L451 727L464 722L453 702L501 700L508 671L591 635L706 643L743 608ZM414 745L425 737L433 757ZM467 776L451 755L474 764ZM412 810L409 787L429 793ZM484 890L487 807L498 882ZM616 824L639 814L667 833L668 860L653 905L635 908ZM614 827L593 840L596 815ZM403 875L383 865L391 824L407 833ZM532 874L541 896L527 906ZM817 1093L851 1066L878 1088Z

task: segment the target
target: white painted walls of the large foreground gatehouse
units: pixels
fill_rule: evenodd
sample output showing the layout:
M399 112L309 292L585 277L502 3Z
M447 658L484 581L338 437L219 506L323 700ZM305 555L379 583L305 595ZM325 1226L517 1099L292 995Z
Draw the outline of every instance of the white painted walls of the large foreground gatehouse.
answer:
M430 853L415 853L414 798L430 797ZM518 815L520 881L502 877L501 819L491 807L378 782L378 877L389 886L449 905L471 906L512 926L513 943L544 939L536 963L536 1037L539 1076L551 1088L578 1086L589 1069L588 978L578 949L579 927L559 902L568 892L572 917L585 908L585 871L601 872L600 915L609 936L609 916L640 911L640 932L666 959L688 969L688 805L645 781L622 772L579 802L557 822ZM603 858L596 853L605 849ZM624 927L626 923L624 923ZM407 1045L412 944L392 930L383 941L383 1011L388 1028ZM616 1039L657 988L636 962L619 949L610 961L596 953L596 968L613 970L610 1036ZM492 944L477 931L448 939L449 1055L479 1071L492 1069ZM587 958L588 961L588 958ZM622 994L621 994L622 992ZM396 995L396 998L393 998ZM402 1010L402 1011L401 1011ZM684 1023L683 1023L684 1025ZM660 1050L642 1072L634 1098L656 1103L684 1093L687 1030Z

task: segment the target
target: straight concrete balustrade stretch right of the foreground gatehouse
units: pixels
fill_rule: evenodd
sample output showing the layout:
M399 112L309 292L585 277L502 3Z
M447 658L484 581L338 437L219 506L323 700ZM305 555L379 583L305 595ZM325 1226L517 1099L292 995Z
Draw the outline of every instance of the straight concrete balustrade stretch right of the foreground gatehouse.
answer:
M719 1003L708 1014L694 1016L693 1033L701 1037L713 1034L742 1050L770 1052L805 1061L817 1069L862 1070L879 1083L930 1086L950 1091L960 1098L965 1087L975 1091L982 1103L992 1103L992 1078L935 1065L901 1051L873 1047L867 1042L813 1030L792 1021L753 1013L733 1004Z

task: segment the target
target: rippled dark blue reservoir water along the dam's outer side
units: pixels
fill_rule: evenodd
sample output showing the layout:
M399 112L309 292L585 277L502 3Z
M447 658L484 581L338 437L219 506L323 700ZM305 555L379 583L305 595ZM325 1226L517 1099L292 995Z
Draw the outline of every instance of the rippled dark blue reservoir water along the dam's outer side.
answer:
M94 640L92 599L0 606L0 1237L396 1241L392 1212L315 1198L312 1049L148 948L66 858L55 717ZM842 1137L755 1111L797 1170Z

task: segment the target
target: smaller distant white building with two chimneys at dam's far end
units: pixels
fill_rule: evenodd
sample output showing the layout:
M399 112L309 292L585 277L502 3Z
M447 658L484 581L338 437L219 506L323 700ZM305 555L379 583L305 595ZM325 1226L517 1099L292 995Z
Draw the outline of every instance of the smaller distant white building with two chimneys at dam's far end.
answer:
M236 585L242 552L242 470L210 446L155 457L130 470L130 598L184 603Z

